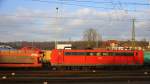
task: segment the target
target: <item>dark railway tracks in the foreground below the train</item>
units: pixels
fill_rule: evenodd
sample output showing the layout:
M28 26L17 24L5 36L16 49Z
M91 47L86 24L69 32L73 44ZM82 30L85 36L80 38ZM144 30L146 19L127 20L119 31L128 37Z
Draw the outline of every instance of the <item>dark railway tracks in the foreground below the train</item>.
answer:
M0 84L148 82L150 70L136 71L0 71ZM139 83L138 82L138 83Z

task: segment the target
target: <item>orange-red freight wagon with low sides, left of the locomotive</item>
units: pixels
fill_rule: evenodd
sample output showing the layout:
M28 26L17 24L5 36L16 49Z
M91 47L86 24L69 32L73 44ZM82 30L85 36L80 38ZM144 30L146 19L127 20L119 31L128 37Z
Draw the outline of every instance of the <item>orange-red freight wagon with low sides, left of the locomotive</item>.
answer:
M42 67L40 51L1 50L0 67Z

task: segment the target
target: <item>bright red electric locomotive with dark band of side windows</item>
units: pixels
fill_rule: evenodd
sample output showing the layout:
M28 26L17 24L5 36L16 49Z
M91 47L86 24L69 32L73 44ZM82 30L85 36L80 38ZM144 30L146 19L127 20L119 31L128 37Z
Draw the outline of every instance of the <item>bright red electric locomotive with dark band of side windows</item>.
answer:
M142 65L139 50L53 50L51 66Z

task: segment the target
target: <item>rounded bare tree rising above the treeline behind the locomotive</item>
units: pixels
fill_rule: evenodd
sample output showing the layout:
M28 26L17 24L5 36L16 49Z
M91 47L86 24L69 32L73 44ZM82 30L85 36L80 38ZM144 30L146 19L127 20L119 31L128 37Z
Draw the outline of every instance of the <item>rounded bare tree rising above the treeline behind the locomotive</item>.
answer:
M98 47L101 36L96 29L89 28L83 32L83 40L87 41L87 46L90 48Z

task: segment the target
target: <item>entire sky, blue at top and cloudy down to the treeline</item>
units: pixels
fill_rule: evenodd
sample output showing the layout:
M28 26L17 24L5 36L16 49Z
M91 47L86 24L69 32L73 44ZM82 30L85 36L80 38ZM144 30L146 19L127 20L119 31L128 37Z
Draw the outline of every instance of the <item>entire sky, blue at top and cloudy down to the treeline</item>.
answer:
M58 8L58 10L56 9ZM0 41L150 40L150 0L0 0Z

